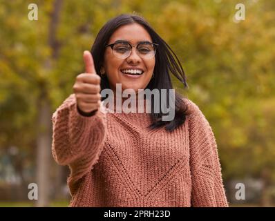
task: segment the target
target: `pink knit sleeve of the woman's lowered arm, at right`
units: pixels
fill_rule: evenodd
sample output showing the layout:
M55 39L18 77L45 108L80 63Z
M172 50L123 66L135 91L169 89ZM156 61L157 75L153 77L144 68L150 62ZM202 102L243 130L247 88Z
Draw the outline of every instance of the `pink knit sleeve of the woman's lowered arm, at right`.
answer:
M214 133L198 106L189 101L191 204L192 206L228 206Z

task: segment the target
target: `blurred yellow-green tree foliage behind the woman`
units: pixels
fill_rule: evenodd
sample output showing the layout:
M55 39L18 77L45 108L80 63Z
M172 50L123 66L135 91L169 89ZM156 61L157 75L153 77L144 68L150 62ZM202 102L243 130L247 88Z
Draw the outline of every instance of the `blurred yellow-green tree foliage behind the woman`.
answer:
M54 111L72 93L84 70L82 52L91 48L102 25L135 12L182 62L189 90L176 79L174 86L209 119L224 177L259 177L266 168L275 174L274 1L243 1L246 18L239 23L233 19L238 1L64 1L55 59L48 44L53 1L35 1L38 21L28 20L32 2L1 1L0 147L33 146L41 86Z

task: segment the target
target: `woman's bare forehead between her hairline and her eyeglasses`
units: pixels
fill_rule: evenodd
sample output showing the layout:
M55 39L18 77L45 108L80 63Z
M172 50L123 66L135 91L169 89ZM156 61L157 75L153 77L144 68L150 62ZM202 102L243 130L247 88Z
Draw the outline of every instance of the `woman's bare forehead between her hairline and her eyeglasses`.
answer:
M151 41L151 36L143 26L138 23L131 23L129 25L117 28L111 38L109 44L117 40L129 41L131 44L137 44L140 41Z

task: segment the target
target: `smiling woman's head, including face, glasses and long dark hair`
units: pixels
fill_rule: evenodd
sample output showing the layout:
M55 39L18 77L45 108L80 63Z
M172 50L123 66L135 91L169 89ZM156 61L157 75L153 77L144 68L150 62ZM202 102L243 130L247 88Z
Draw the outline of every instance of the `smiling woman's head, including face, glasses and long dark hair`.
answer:
M115 47L115 43L121 44ZM115 91L116 84L122 84L122 90L131 88L136 92L144 88L167 90L165 97L160 97L157 102L155 99L152 100L152 129L164 126L167 131L173 131L184 123L187 104L183 102L182 96L176 93L174 99L169 101L169 90L173 89L169 73L187 87L184 70L173 50L142 17L121 15L108 21L99 30L91 52L95 61L95 71L104 76L100 84L102 90L111 88ZM138 70L142 70L142 75L133 75ZM161 120L165 113L156 113L153 110L161 105L162 99L167 99L166 104L175 104L176 115L169 122Z

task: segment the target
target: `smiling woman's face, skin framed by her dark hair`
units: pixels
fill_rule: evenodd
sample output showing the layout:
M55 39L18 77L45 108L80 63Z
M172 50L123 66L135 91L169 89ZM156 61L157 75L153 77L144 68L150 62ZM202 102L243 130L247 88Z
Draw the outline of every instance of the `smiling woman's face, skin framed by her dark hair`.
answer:
M136 46L140 41L152 42L149 33L138 23L121 26L108 41L113 44L117 40L128 41L132 46ZM155 56L151 59L142 59L133 47L131 55L125 59L115 57L111 47L107 47L104 53L104 71L108 77L110 88L115 92L116 84L122 84L122 91L128 88L138 92L149 84L155 67ZM142 75L126 75L125 70L142 70Z

